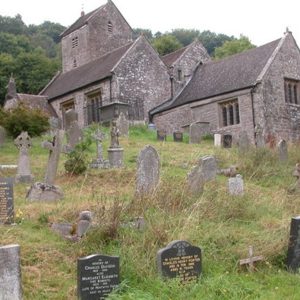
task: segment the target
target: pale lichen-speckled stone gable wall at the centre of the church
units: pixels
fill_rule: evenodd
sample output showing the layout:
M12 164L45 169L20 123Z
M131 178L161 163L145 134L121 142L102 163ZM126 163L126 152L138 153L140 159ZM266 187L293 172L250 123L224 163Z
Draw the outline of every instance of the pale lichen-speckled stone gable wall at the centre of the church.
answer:
M139 37L113 70L113 93L130 105L131 120L148 120L148 112L171 96L167 67L143 37Z

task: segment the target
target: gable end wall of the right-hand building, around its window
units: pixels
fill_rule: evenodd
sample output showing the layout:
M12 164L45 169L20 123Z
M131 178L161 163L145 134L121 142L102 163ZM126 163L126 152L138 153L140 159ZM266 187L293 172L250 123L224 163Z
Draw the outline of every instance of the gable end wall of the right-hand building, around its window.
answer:
M263 77L255 99L256 123L267 140L300 140L300 105L285 102L284 78L300 80L300 53L291 34ZM299 97L299 96L298 96Z

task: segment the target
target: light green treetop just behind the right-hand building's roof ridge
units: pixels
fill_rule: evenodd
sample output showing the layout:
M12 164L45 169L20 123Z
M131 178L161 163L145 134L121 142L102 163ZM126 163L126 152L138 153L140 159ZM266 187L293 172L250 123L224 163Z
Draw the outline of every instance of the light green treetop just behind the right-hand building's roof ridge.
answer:
M249 38L244 35L240 35L239 39L226 41L221 47L216 48L215 58L221 59L254 47L255 46L250 42Z

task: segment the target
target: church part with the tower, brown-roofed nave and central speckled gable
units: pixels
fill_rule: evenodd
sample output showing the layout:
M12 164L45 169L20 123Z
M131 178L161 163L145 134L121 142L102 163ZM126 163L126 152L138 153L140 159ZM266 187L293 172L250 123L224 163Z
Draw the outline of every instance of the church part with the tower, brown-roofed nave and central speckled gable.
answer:
M134 40L111 0L82 13L61 43L62 71L40 94L63 123L65 111L75 108L82 127L101 121L100 107L119 102L128 104L132 122L147 122L148 112L182 88L200 60L209 60L200 42L161 59L144 36Z

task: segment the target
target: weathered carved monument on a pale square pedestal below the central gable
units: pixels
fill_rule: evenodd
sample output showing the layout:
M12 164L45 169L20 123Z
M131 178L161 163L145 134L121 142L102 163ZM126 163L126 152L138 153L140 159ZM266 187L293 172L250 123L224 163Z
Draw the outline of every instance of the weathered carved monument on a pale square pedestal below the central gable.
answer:
M120 147L119 136L120 131L117 127L117 123L116 121L112 121L110 130L110 147L107 150L110 168L123 167L124 149Z

